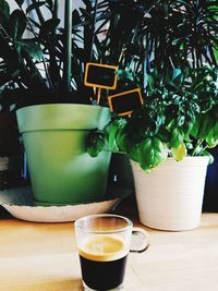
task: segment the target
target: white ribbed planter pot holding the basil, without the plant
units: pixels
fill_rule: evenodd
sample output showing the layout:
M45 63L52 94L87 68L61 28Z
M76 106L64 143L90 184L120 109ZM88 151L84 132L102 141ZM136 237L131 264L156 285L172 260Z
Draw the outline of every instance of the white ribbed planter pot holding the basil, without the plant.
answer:
M145 173L131 161L140 221L150 228L182 231L201 223L207 157L173 158Z

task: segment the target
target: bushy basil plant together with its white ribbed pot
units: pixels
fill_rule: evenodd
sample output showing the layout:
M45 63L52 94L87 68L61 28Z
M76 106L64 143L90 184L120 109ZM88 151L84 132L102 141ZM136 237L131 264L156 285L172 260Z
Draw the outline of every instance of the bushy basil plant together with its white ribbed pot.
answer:
M217 81L217 69L205 66L180 86L177 80L174 90L173 80L159 88L156 84L140 110L105 129L109 141L113 135L113 150L116 144L132 160L140 219L146 226L185 230L199 223L213 161L207 148L218 144Z

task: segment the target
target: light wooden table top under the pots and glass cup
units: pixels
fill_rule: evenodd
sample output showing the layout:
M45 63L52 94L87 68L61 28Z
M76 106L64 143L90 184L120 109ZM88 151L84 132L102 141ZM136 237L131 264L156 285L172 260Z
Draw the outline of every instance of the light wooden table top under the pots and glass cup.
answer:
M203 214L201 227L192 231L143 228L150 246L130 254L123 291L218 290L218 214ZM34 223L1 214L0 291L78 290L73 222Z

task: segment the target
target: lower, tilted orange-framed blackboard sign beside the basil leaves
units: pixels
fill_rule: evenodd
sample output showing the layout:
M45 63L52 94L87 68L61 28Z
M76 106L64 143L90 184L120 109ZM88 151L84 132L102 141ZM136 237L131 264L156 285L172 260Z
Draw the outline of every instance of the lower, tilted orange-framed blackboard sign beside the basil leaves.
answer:
M122 92L108 97L109 108L118 116L130 116L135 109L143 105L140 88Z

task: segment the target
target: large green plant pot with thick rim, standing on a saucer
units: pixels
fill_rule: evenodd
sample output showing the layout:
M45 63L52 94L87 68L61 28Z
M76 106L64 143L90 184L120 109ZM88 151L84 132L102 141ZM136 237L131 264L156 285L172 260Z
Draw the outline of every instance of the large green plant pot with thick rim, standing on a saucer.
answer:
M36 203L75 204L102 199L109 151L92 158L89 130L110 120L108 108L86 105L39 105L16 111Z

